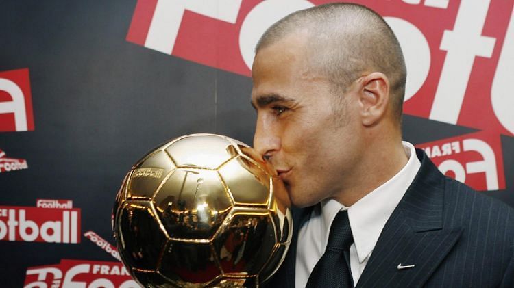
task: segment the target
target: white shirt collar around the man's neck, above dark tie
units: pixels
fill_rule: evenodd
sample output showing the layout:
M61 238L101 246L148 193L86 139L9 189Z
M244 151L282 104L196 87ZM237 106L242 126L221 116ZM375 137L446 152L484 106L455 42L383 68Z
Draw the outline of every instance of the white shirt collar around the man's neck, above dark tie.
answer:
M387 220L402 200L408 187L413 182L421 163L416 157L413 144L402 142L408 161L404 168L393 178L380 187L358 200L351 207L345 207L334 199L321 201L321 225L326 231L323 247L326 247L330 226L341 210L348 210L348 218L352 227L354 245L358 254L358 261L363 263L375 248L376 242Z

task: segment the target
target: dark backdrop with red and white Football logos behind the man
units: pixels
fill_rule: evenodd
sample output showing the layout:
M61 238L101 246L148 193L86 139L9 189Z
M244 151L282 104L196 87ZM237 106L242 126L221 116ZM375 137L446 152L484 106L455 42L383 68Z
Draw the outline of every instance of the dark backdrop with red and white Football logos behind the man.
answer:
M403 133L514 207L514 0L357 0L404 51ZM111 209L132 164L190 133L252 144L255 44L326 0L3 1L0 283L138 287Z

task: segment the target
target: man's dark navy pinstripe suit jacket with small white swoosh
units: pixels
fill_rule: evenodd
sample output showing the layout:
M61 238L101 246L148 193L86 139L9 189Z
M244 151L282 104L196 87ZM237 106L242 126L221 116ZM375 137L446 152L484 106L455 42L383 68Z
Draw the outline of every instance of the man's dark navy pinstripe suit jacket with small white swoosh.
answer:
M417 157L356 287L514 287L514 209L443 176L422 150ZM293 211L289 252L265 287L295 287L297 233L311 209Z

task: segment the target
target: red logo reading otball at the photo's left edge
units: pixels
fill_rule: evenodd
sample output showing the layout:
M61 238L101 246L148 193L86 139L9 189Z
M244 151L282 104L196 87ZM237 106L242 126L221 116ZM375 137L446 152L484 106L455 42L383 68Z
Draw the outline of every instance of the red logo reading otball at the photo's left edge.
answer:
M0 206L0 241L80 242L80 209L71 200L37 200L37 207Z

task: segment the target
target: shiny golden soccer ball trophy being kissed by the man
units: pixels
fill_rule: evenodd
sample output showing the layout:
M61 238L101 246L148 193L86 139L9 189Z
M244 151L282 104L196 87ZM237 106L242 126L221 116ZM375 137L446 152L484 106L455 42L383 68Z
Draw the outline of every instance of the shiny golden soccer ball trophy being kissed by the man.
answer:
M175 138L125 176L112 214L144 287L257 287L282 263L293 220L276 171L228 137Z

